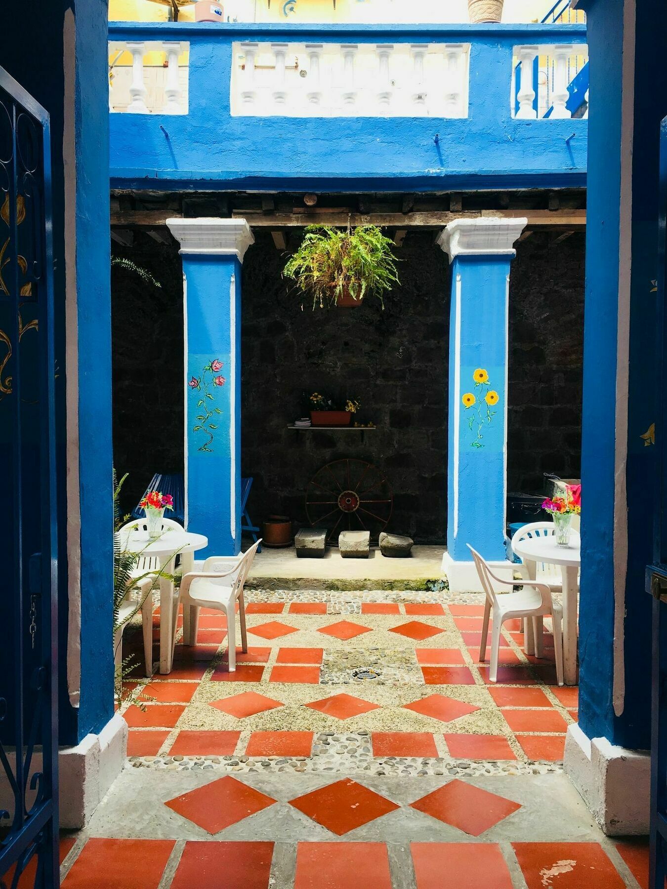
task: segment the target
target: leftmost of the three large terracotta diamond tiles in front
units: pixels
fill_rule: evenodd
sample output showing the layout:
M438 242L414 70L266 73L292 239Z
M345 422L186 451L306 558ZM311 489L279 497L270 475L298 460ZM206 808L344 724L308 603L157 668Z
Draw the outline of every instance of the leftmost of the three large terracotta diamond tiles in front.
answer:
M210 834L219 833L276 802L230 775L168 800L165 805Z

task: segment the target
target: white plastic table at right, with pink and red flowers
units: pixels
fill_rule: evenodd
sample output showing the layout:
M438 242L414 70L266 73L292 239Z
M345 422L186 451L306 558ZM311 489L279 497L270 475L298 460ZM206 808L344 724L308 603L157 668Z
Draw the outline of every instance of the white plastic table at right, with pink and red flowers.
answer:
M569 547L559 547L555 534L526 537L514 545L514 552L524 560L532 580L538 562L560 566L563 575L563 678L566 685L576 685L577 594L579 567L582 564L580 547L581 540L575 533Z

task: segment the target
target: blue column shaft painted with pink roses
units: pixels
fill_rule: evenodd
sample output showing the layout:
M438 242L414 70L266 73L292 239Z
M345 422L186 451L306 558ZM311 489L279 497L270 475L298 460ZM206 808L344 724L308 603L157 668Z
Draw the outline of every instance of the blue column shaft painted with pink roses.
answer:
M241 264L234 256L184 253L183 274L187 527L208 537L208 548L197 558L236 556L241 549Z

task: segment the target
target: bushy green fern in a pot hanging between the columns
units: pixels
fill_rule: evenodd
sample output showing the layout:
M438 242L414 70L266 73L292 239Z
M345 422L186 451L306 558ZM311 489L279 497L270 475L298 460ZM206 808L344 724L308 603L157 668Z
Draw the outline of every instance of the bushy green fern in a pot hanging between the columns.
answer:
M312 297L313 308L356 307L367 295L382 294L398 284L393 242L374 225L309 226L283 275Z

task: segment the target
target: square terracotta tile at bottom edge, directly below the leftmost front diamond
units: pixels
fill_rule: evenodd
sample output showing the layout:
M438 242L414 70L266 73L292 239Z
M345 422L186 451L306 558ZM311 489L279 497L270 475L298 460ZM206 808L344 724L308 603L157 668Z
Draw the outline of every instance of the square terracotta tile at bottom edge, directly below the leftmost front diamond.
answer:
M269 889L273 843L189 842L171 889Z

